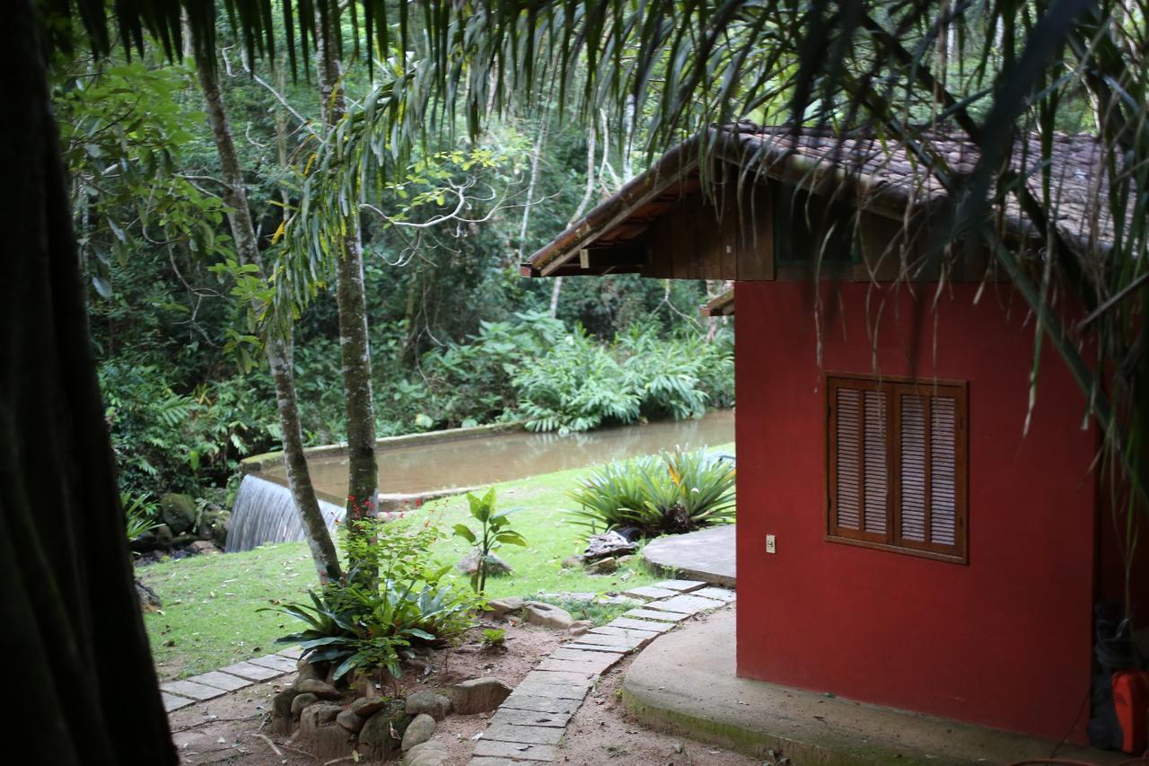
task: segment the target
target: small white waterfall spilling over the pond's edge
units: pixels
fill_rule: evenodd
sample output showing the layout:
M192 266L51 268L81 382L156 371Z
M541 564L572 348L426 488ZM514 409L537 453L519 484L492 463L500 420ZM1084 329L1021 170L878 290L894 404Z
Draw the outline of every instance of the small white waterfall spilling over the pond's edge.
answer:
M319 500L319 511L327 528L344 518L344 508ZM291 490L283 484L248 474L239 484L236 505L231 510L228 530L228 552L249 551L264 543L286 543L303 539L303 524L295 511Z

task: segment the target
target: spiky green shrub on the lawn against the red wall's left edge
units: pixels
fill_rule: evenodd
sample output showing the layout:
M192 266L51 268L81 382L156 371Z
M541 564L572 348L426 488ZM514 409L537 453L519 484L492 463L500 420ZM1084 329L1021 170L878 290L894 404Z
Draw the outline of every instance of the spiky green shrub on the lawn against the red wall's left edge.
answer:
M676 450L608 465L579 482L576 523L591 533L632 527L645 537L734 520L734 466L704 451Z

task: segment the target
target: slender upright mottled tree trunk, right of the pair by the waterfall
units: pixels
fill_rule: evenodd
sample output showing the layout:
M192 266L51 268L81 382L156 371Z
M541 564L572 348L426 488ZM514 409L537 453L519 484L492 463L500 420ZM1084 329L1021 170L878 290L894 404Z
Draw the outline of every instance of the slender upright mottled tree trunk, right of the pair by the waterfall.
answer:
M338 47L334 12L327 14L327 28L316 14L318 51L316 72L324 125L330 130L347 110ZM336 252L336 299L339 306L339 347L342 354L344 398L346 406L348 485L347 518L373 518L378 505L378 467L375 461L375 406L371 401L371 348L367 335L367 296L363 288L363 250L358 217L348 222L342 242L332 243ZM353 529L348 526L348 529ZM364 577L373 580L371 573Z

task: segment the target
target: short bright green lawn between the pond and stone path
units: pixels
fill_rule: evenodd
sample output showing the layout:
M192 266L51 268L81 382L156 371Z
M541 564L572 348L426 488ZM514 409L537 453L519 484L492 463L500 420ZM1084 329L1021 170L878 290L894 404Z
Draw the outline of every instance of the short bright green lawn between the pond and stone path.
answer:
M578 468L495 485L500 508L520 508L512 516L512 527L530 545L500 550L515 572L509 577L489 580L488 597L602 593L660 579L648 573L638 559L611 575L588 575L581 569L560 566L564 558L581 549L579 528L568 521L571 503L565 492L589 470ZM471 521L463 497L429 503L418 513L433 514L445 530L458 521ZM445 535L434 547L433 558L442 564L455 562L466 550L464 541ZM256 610L277 600L303 597L316 584L311 557L303 543L164 561L140 567L138 573L163 602L162 612L146 614L144 619L160 675L165 680L273 651L275 638L294 631L296 623L283 614ZM596 610L587 616L609 620L610 612Z

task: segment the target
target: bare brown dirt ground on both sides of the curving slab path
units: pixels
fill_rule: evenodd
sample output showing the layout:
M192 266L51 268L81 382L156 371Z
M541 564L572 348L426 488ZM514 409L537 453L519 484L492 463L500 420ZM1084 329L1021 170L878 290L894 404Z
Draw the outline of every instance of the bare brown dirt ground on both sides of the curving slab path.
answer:
M507 627L500 623L500 627ZM568 639L566 636L535 628L507 628L507 651L492 652L478 643L480 629L468 641L449 650L434 652L423 671L406 674L400 687L404 692L446 687L465 679L494 676L516 685L543 656ZM591 690L586 702L571 719L558 754L571 766L602 766L607 763L635 766L686 766L720 764L750 766L759 761L725 752L691 740L642 728L626 713L619 699L619 684L630 659L609 671ZM240 689L216 699L171 713L172 736L184 764L237 764L240 766L315 766L321 761L292 740L270 730L271 700L292 676L278 682ZM449 715L439 723L434 740L449 752L446 766L464 766L475 748L473 738L487 726L489 714ZM342 763L352 763L342 759Z

